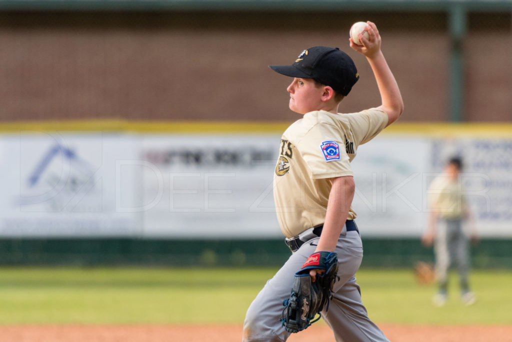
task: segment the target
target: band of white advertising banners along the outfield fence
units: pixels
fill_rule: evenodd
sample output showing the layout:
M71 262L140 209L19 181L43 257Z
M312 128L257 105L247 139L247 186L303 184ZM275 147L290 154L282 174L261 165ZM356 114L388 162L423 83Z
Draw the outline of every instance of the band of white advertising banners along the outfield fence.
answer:
M279 134L0 135L0 237L281 238ZM512 236L512 140L383 134L352 162L363 236L419 237L426 194L461 156L482 236Z

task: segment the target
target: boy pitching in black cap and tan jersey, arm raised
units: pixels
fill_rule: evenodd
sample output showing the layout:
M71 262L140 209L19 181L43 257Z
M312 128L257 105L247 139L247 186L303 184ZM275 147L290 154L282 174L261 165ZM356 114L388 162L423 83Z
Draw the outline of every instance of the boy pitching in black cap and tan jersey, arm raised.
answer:
M283 134L274 174L274 200L279 224L292 255L270 279L247 310L244 341L285 341L290 333L280 321L283 300L290 296L295 272L317 251L336 252L338 277L328 310L322 316L337 341L387 341L368 318L355 273L362 243L351 209L354 178L350 162L367 143L402 113L403 102L384 58L375 24L369 37L350 47L365 55L375 75L382 103L358 113L339 114L340 101L359 75L352 59L337 48L304 50L292 65L270 68L293 77L289 107L304 114ZM312 281L316 272L311 270Z

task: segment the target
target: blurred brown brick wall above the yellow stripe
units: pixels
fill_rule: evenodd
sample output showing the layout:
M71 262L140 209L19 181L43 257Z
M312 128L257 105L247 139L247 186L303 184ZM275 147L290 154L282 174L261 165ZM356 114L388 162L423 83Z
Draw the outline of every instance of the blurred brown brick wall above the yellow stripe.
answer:
M358 67L341 111L376 106L372 72L348 46L350 25L366 18L400 85L401 120L449 120L446 15L357 12L3 13L0 120L291 120L289 79L267 65L314 45L340 47ZM510 120L510 15L468 23L465 117Z

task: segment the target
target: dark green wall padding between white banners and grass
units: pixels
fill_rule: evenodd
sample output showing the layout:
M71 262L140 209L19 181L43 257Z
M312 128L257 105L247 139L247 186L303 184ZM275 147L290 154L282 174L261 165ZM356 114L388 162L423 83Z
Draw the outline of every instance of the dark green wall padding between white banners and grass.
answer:
M364 238L361 267L412 267L432 262L417 238ZM512 239L482 239L475 268L512 268ZM4 238L0 266L275 266L289 257L282 239Z

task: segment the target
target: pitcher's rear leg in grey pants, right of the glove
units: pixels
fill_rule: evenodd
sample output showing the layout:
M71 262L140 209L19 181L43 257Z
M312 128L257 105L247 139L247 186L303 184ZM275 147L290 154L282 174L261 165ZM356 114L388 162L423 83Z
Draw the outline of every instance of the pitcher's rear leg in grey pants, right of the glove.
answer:
M341 237L336 253L339 280L334 283L327 312L325 309L322 312L336 341L388 341L368 317L354 277L362 260L362 243L357 232L348 232L346 237Z

